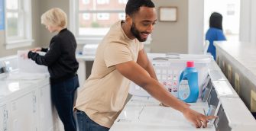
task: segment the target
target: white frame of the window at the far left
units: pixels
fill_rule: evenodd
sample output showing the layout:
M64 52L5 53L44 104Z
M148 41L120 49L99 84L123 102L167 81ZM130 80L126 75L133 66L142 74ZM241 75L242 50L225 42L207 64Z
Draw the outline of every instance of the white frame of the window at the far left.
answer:
M32 39L32 18L31 18L31 0L18 0L18 9L11 10L7 8L5 0L5 46L6 49L13 49L23 46L31 46ZM18 13L18 35L8 37L8 13Z

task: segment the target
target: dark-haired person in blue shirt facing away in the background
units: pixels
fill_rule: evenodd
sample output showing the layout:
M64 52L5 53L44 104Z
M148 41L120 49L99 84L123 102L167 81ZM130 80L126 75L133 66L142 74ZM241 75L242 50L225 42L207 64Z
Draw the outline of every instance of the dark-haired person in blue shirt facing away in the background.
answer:
M226 40L222 31L222 14L213 12L209 20L209 29L206 32L206 40L209 40L209 47L207 53L211 53L216 59L216 49L213 41Z

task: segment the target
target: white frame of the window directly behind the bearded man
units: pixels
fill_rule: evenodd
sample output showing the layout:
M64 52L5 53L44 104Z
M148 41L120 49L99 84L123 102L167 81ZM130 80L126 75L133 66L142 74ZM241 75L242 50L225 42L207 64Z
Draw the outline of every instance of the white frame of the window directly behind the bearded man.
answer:
M79 14L80 13L125 13L125 8L123 10L81 10L79 11L79 0L70 0L70 30L76 37L76 43L78 44L99 44L103 39L104 35L79 35ZM73 14L73 15L72 15ZM147 37L147 41L144 44L151 43L151 35Z

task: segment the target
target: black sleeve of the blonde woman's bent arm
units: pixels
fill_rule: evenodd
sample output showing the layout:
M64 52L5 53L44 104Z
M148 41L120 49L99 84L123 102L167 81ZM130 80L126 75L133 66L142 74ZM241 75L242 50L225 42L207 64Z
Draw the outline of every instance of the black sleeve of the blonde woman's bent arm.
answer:
M50 50L41 56L38 53L28 52L28 58L34 60L38 65L50 66L59 59L61 54L60 40L53 40L53 43L50 43Z

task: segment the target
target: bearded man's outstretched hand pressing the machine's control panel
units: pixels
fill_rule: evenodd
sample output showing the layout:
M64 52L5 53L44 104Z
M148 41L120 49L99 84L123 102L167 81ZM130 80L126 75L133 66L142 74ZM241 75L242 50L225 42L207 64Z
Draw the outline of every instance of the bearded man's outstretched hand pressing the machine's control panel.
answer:
M185 108L182 113L187 120L189 120L191 123L193 123L194 126L196 126L196 128L200 128L201 126L203 126L203 128L206 128L207 122L216 118L215 116L205 116L202 113L198 113L190 108Z

